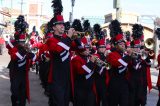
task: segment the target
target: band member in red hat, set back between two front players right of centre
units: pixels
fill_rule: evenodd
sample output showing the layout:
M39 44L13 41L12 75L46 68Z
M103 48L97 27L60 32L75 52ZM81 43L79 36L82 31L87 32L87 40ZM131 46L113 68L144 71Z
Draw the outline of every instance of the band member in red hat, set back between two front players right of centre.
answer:
M106 61L106 45L105 45L105 39L100 39L97 43L97 54L95 54L100 60ZM106 69L106 66L98 66L95 73L95 83L96 83L96 90L98 99L100 102L102 102L102 106L108 106L108 83L109 83L109 73Z

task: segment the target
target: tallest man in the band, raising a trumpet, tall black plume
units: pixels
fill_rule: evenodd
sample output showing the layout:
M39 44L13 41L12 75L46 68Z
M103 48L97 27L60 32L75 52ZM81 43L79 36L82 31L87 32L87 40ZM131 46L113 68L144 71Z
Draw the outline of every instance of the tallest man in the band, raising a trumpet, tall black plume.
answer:
M68 106L71 91L71 47L73 45L72 37L76 34L74 28L70 28L67 34L64 30L64 20L61 15L61 0L52 1L54 8L54 17L50 20L50 26L53 29L53 37L46 42L50 53L50 70L48 83L50 89L50 106ZM73 47L74 48L74 47ZM72 87L73 88L73 87Z

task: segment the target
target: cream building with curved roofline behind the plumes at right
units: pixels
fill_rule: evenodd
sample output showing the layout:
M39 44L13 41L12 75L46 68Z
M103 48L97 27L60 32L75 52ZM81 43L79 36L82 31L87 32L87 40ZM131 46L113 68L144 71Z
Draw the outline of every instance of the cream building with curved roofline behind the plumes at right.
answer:
M139 14L136 13L121 13L121 25L122 25L122 30L123 32L130 31L132 32L132 25L135 23L139 23L144 27L144 40L147 38L153 38L154 36L154 27L147 25L145 23L140 23L139 22ZM106 29L107 32L109 32L108 26L111 22L111 20L116 19L116 14L115 13L110 13L105 15L105 24L102 25L102 28Z

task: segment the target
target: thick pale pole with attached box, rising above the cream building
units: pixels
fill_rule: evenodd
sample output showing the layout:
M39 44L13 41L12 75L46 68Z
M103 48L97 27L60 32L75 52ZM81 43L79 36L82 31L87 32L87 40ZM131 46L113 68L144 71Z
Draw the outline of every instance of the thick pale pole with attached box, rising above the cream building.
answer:
M122 12L120 0L113 0L113 8L116 9L116 19L120 21Z

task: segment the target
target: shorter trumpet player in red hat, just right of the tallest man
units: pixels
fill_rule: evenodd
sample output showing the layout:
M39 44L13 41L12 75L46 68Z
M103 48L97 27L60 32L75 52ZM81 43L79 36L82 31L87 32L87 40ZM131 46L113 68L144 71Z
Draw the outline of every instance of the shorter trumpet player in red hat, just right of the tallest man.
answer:
M74 73L74 106L96 106L94 94L94 57L89 59L90 45L85 37L82 38L84 49L77 50L72 59Z

